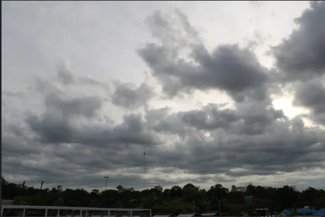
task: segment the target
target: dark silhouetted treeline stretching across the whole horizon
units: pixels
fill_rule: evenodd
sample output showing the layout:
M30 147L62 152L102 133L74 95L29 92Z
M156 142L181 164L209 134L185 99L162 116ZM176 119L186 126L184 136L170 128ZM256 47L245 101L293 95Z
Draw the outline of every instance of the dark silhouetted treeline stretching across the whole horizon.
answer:
M94 189L87 192L84 189L63 189L60 185L41 190L28 187L25 182L8 183L3 177L1 185L2 199L14 200L15 205L105 207L106 201L107 208L149 208L153 213L173 214L193 211L193 201L197 212L218 211L219 202L221 213L250 213L255 208L268 208L271 213L304 206L325 208L324 190L308 187L300 192L288 185L281 188L233 185L227 189L221 184L215 184L209 190L204 190L188 183L170 189L158 185L143 191L119 185L107 191Z

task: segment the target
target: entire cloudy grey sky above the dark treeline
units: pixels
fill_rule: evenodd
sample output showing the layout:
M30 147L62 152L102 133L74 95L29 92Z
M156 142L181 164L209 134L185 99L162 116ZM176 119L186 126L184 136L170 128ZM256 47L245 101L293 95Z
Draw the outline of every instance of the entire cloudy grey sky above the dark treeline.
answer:
M7 181L325 188L325 1L2 1L1 18Z

